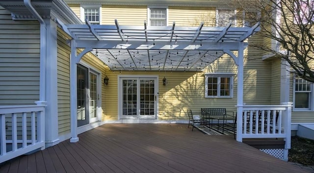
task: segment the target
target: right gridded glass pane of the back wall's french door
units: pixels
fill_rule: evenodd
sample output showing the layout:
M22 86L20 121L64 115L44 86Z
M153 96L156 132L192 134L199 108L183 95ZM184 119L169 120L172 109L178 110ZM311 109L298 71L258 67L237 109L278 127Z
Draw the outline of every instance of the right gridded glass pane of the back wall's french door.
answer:
M140 115L143 118L145 116L151 116L151 118L155 117L154 89L154 80L140 80Z

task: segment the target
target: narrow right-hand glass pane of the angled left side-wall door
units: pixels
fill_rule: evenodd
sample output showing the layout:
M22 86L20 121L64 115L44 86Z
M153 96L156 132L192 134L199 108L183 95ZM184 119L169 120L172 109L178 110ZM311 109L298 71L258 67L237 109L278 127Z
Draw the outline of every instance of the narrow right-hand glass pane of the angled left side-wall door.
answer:
M98 100L98 94L97 94L97 75L90 73L90 79L89 79L89 116L90 118L96 118L97 117L97 100Z

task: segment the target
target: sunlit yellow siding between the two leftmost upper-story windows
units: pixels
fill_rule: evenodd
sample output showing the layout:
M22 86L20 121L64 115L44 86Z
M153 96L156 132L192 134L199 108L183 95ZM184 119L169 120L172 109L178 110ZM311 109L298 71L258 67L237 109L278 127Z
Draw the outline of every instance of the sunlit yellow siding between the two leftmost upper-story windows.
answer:
M102 6L102 24L115 25L117 19L119 25L144 25L147 21L147 6Z

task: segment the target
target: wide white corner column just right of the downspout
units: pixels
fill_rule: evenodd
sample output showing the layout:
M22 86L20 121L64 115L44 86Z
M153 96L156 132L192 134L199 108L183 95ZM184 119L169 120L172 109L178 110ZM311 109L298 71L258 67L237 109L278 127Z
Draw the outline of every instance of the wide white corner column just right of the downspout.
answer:
M58 90L57 90L57 26L50 20L45 20L46 34L46 101L45 111L45 142L46 147L59 143L58 136Z

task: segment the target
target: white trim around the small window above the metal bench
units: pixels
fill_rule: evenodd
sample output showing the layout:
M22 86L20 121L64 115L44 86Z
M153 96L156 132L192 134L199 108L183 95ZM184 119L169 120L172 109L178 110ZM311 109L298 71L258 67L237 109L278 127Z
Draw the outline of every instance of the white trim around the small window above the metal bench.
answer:
M233 98L234 97L234 73L206 73L205 74L205 98ZM208 77L230 77L230 96L208 96ZM219 85L219 83L218 83ZM217 91L220 93L220 89Z

